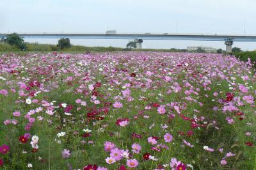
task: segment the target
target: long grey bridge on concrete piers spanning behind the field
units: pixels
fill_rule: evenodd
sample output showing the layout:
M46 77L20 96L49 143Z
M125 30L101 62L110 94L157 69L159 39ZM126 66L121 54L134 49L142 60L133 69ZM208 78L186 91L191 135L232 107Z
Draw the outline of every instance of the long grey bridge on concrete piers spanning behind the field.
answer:
M0 33L0 38L6 38L9 33ZM193 40L222 41L226 51L231 52L233 42L256 42L256 35L217 35L217 34L173 34L173 33L18 33L22 38L74 38L74 39L129 39L136 40L141 48L143 40Z

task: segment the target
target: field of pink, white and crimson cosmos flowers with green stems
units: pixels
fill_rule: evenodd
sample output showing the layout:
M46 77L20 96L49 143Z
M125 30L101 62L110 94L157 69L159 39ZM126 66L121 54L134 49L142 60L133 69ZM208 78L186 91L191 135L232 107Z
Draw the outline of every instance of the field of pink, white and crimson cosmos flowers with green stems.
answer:
M3 54L0 169L254 169L255 83L221 54Z

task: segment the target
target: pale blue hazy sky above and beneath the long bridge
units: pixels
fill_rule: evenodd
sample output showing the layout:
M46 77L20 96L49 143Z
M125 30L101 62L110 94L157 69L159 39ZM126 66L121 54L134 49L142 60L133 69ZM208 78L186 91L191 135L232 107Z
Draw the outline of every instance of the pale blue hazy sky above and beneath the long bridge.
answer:
M256 35L255 0L0 0L0 33L212 33ZM57 39L26 39L57 43ZM129 40L70 40L125 47ZM144 40L143 48L225 49L224 42ZM256 49L256 43L233 47Z

